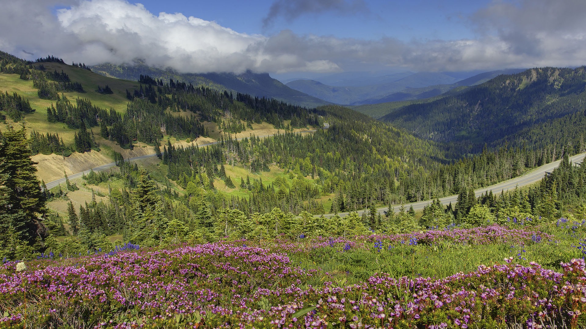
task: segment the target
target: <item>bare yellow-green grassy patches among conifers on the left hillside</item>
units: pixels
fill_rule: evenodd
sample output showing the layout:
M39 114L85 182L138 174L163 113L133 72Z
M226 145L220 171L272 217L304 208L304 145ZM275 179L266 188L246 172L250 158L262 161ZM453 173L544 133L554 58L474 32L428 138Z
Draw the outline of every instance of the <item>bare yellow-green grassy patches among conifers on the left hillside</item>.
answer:
M18 61L18 59L16 59ZM22 61L21 61L22 62ZM21 63L22 64L22 63ZM99 108L104 109L114 109L114 111L119 112L120 114L124 114L127 111L127 105L129 100L127 98L126 90L138 90L141 87L141 83L137 81L128 81L128 80L121 80L117 78L105 77L100 74L92 73L84 68L80 68L77 66L70 66L63 63L56 63L56 62L43 62L35 64L36 66L42 65L45 68L46 72L63 72L69 76L71 81L76 81L80 83L84 87L84 92L62 92L60 95L66 100L69 100L73 104L75 104L77 98L83 98L85 100L89 100L92 105L97 106ZM113 90L113 94L101 94L97 91L97 86L101 85L108 85L111 90ZM54 105L54 100L44 100L39 97L38 95L38 88L33 87L33 81L31 80L23 80L19 77L19 74L0 74L0 90L4 92L8 92L12 94L13 92L22 95L30 102L30 105L34 112L25 115L26 127L28 128L28 133L30 134L33 131L39 133L57 133L59 137L63 140L65 145L69 148L74 148L74 134L76 133L75 129L68 128L67 124L64 122L56 122L51 123L47 121L47 114L45 109ZM192 115L197 116L196 113L192 111L180 111L180 112L172 112L173 115L182 116L189 118ZM219 121L220 122L220 121ZM163 148L165 145L165 141L163 139L170 140L174 146L177 147L186 147L190 146L192 142L197 144L202 143L209 143L209 142L216 142L218 139L222 138L223 129L219 128L220 123L216 122L203 122L203 124L207 127L209 131L209 136L206 138L198 138L197 140L185 139L180 140L170 135L163 134L161 141L159 142L160 148ZM290 121L284 121L285 124L288 124ZM13 124L11 118L6 118L7 124ZM94 127L90 129L93 130L94 138L96 139L97 143L100 145L100 155L94 155L93 153L74 153L74 156L69 156L66 158L60 157L61 152L59 152L59 156L50 156L50 155L38 155L35 156L35 159L40 162L39 164L39 176L41 179L46 181L52 181L54 179L59 179L63 177L63 172L65 171L67 174L72 174L76 172L75 170L88 170L91 167L102 165L107 162L111 162L111 160L107 160L107 158L113 159L113 155L115 152L122 153L124 157L133 157L133 156L141 156L145 154L154 153L154 149L151 145L148 145L145 142L134 141L132 144L133 148L129 149L127 145L120 145L113 140L104 139L100 136L100 129L99 127ZM2 129L6 129L6 126L0 125L0 131ZM280 131L280 129L275 128L274 125L268 124L267 122L250 122L248 127L245 127L244 131L241 132L234 132L231 134L233 138L243 138L243 137L250 137L251 135L255 136L267 136L272 135ZM291 128L291 132L300 132L306 131L309 128ZM226 130L226 129L224 129ZM283 131L283 129L281 129ZM94 151L96 152L96 151ZM158 171L164 169L166 166L162 167L152 167L152 170L155 170L154 176L158 177L165 177L165 173L159 174ZM246 170L241 170L243 168L234 167L230 169L228 172L231 174L233 179L239 179L239 174L244 174ZM73 170L73 171L72 171ZM283 174L283 170L278 169L277 167L272 167L274 174ZM270 176L274 176L271 174ZM236 176L234 176L236 175ZM258 174L255 173L248 173L248 175L252 176L253 179L258 179ZM244 179L246 179L246 174L244 174ZM257 177L255 177L257 176ZM271 179L268 180L269 182ZM230 193L229 189L226 189L223 186L223 182L220 181L216 183L218 188L224 192ZM241 196L242 193L235 192L236 196ZM246 193L245 193L246 194ZM247 194L246 194L247 195Z

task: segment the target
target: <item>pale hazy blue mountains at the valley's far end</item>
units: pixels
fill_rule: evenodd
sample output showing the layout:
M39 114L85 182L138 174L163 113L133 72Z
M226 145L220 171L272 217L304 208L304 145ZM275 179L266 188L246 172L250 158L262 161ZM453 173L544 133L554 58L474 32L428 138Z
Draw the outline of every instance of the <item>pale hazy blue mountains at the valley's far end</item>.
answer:
M383 76L365 76L356 73L351 80L347 73L320 78L339 82L329 85L316 80L294 80L286 85L294 90L325 101L342 105L378 104L382 102L420 100L441 95L457 87L480 84L500 74L513 74L522 69L483 72L466 77L466 73L402 72ZM474 74L474 73L468 73ZM466 77L462 80L462 77Z

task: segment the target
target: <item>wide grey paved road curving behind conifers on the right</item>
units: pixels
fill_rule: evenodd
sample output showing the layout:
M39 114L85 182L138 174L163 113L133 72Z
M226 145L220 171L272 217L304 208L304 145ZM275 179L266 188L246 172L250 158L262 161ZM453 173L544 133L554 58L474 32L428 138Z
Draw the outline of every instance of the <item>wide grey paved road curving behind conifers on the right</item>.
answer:
M574 164L582 163L582 160L584 160L585 155L586 155L586 153L581 153L578 155L571 156L570 161ZM476 194L476 197L479 197L479 196L481 196L481 194L485 193L486 191L490 191L490 190L492 190L493 193L495 193L495 194L499 194L503 190L506 191L509 189L515 189L515 186L521 187L521 186L535 183L536 181L541 180L546 173L551 173L551 171L553 169L555 169L558 165L560 165L560 161L561 160L557 160L556 162L548 163L547 165L537 167L536 169L532 170L529 173L524 174L523 176L515 177L513 179L502 181L498 184L494 184L491 186L483 187L482 189L474 190L474 194ZM444 205L449 204L449 203L455 204L456 201L458 200L458 195L456 194L454 196L443 197L443 198L440 198L439 200ZM405 207L408 209L409 207L413 206L414 210L422 210L423 207L430 204L431 201L432 200L406 203ZM400 208L401 208L401 205L395 205L394 206L395 213L398 213ZM384 213L386 213L387 210L389 210L389 207L377 208L377 213L384 214ZM362 213L364 213L364 210L358 210L356 212L359 215L362 215ZM340 217L344 217L347 214L348 213L339 213L338 215ZM332 217L333 215L334 214L326 214L325 217Z

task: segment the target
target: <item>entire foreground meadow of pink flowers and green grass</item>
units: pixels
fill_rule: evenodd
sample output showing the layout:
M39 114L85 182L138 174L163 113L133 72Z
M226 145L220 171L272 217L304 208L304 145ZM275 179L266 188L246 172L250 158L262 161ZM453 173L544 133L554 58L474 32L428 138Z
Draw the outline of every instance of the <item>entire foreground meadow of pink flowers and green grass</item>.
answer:
M580 328L584 232L220 241L0 268L0 328Z

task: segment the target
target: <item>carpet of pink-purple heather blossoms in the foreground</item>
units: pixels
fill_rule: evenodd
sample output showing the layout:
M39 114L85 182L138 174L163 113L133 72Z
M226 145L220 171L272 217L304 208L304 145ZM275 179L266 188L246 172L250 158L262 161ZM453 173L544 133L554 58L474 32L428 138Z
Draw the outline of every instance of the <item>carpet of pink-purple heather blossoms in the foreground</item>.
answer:
M488 227L366 239L408 241L415 235L420 241L488 244L496 240L528 242L533 234ZM364 244L363 239L343 242L358 245ZM283 251L305 249L303 243L274 241L264 248L246 243L249 246L243 241L218 242L35 261L23 272L7 263L0 268L0 314L8 316L0 317L0 324L18 325L25 312L42 315L39 318L44 322L36 323L40 328L73 326L72 319L83 319L85 327L94 328L157 328L174 323L189 328L328 328L340 324L442 329L475 328L479 323L515 322L527 328L561 321L570 327L586 323L582 259L563 263L563 273L537 263L503 262L444 279L394 278L380 273L363 283L340 285L331 282L328 273L291 264ZM322 243L329 242L311 242ZM323 284L306 283L315 277L321 277Z

